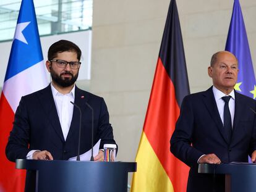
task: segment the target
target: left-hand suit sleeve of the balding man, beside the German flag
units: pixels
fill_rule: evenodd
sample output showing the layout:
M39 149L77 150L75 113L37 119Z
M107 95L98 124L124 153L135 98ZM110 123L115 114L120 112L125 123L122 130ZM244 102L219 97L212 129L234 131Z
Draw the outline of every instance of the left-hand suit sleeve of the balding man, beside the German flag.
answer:
M182 101L181 113L170 141L174 156L189 166L197 164L199 157L203 155L198 149L192 147L195 114L191 100L186 97Z

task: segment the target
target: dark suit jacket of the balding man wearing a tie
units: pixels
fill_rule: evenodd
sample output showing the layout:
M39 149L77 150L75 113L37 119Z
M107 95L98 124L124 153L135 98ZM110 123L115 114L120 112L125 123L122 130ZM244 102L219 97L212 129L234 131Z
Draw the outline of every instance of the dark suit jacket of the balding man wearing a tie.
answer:
M227 142L223 123L213 95L207 91L186 96L171 137L171 152L190 166L187 191L224 190L224 177L213 180L210 174L197 173L197 161L203 154L214 153L221 162L247 162L256 149L256 102L235 91L233 135Z

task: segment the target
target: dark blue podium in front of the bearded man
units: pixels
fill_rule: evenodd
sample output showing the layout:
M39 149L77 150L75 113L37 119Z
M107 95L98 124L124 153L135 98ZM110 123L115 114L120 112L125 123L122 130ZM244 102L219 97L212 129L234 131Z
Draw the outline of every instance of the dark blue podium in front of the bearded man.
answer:
M137 163L17 159L16 168L36 171L38 192L127 192L128 172Z

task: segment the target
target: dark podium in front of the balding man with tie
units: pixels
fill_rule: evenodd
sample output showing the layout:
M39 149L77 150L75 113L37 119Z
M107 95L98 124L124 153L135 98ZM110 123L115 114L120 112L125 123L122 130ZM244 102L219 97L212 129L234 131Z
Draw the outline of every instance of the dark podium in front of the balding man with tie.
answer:
M199 164L198 173L225 174L225 191L256 191L256 164Z

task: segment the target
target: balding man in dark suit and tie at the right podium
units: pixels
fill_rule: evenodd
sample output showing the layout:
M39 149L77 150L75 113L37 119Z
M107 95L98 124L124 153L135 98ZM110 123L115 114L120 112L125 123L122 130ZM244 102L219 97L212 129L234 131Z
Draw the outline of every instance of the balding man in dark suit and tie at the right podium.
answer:
M237 93L238 61L228 51L213 54L213 86L186 96L171 137L171 152L190 166L187 191L224 191L224 175L198 173L198 164L252 162L256 158L254 99Z

